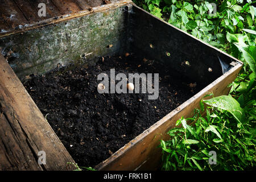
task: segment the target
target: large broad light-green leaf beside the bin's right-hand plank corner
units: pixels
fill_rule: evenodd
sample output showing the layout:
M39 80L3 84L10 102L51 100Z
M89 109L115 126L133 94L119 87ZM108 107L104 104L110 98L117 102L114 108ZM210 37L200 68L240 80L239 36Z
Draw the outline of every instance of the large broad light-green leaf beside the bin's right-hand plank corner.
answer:
M238 122L245 121L245 111L240 107L239 102L230 95L214 97L203 101L205 104L228 111Z

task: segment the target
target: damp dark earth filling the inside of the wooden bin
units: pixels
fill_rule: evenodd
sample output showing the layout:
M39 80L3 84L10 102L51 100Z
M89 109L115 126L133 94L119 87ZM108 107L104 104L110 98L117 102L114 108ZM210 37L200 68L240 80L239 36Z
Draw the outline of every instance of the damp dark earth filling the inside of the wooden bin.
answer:
M159 73L159 97L148 93L97 91L100 73ZM166 65L126 53L97 63L55 68L30 75L24 87L79 166L94 167L155 122L199 92L203 86Z

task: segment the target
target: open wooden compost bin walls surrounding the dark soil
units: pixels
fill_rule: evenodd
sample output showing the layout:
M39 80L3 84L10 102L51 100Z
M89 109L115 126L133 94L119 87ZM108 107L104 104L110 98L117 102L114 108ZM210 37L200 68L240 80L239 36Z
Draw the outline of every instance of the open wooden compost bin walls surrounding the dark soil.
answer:
M113 46L108 47L110 44ZM144 53L197 82L208 83L95 167L151 170L161 162L159 140L168 139L166 133L175 127L177 119L191 117L207 93L215 97L228 94L228 85L242 67L234 57L152 16L131 1L114 1L2 31L0 47L5 56L0 56L1 170L73 169L67 168L67 162L74 162L72 157L20 82L31 73L46 73L71 60L90 65L97 57L127 51ZM89 55L84 59L82 55L86 54ZM189 61L190 66L182 64L184 61ZM38 164L39 151L47 151L47 164Z

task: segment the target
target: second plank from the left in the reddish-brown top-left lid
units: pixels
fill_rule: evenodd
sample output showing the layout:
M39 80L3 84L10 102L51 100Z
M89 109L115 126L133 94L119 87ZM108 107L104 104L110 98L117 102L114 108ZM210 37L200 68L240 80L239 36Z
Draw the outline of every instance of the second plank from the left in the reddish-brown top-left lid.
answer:
M42 20L40 16L38 16L38 11L31 6L29 1L25 0L13 0L16 3L16 6L22 11L23 15L26 17L28 22L38 22Z

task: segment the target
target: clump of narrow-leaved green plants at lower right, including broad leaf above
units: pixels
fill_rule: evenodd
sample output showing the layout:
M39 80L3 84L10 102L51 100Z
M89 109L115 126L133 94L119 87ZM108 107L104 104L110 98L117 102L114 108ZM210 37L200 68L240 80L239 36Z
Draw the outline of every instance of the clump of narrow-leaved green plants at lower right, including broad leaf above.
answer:
M227 105L222 105L223 102ZM195 110L193 118L181 118L168 131L170 140L160 142L164 170L252 170L255 167L255 120L240 122L240 104L231 96L205 100L204 111ZM221 106L219 105L221 104ZM237 113L233 111L238 111ZM248 114L250 116L250 114ZM188 123L192 123L188 125ZM216 152L216 164L210 152Z

